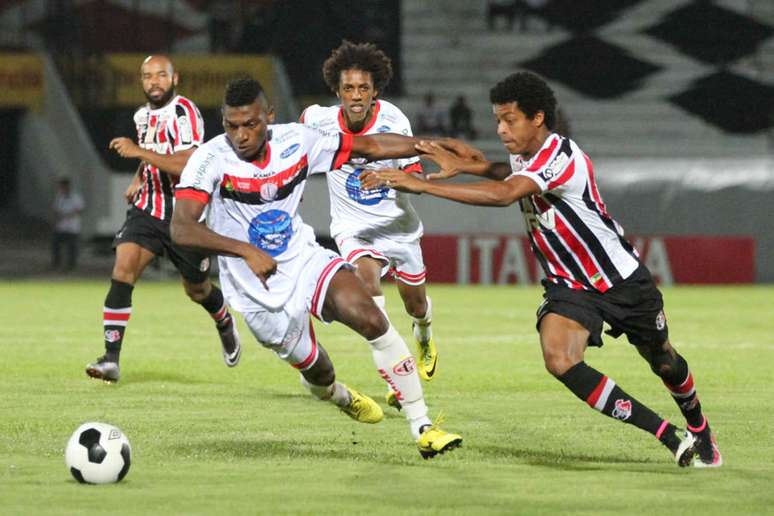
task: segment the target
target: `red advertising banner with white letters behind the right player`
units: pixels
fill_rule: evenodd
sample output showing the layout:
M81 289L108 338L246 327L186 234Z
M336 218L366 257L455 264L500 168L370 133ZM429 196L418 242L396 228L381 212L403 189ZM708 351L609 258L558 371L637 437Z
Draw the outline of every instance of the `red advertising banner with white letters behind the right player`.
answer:
M662 285L752 283L755 240L750 237L629 238ZM432 283L531 285L543 277L529 240L509 235L426 235L422 252Z

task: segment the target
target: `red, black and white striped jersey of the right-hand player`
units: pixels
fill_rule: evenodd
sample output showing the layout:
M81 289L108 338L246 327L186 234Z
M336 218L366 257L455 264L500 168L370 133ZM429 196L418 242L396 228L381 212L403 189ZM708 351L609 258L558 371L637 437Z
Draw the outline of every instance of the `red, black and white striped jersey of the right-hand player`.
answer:
M591 160L575 142L551 134L530 160L511 155L511 169L510 177L528 177L540 187L520 204L549 281L605 292L637 269L637 252L607 213Z

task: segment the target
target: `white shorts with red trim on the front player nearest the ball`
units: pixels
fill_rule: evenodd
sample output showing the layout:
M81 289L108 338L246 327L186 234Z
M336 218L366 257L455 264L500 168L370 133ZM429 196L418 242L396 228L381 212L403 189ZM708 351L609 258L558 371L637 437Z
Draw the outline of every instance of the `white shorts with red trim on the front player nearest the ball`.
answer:
M304 265L296 287L282 309L243 313L258 342L296 369L305 371L312 367L319 352L310 316L323 320L322 308L328 286L342 267L351 265L333 251L320 247Z

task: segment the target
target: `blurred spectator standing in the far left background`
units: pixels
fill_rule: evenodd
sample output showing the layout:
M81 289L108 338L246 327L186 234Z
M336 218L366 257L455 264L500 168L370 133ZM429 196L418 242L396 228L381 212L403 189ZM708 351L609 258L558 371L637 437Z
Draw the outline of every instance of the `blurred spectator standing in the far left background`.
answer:
M78 263L78 240L81 236L81 195L74 191L70 178L57 181L54 197L54 234L51 240L51 267L71 271ZM62 261L64 250L65 261Z

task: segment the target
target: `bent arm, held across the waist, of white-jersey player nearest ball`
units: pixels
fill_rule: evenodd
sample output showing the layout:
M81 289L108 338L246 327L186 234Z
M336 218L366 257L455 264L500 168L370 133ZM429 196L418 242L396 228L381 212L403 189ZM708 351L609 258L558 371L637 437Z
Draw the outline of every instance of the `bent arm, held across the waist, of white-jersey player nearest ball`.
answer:
M204 212L204 207L205 204L193 199L176 198L170 226L172 241L207 253L243 258L268 290L266 280L277 272L277 262L257 247L215 233L200 223L199 218Z

